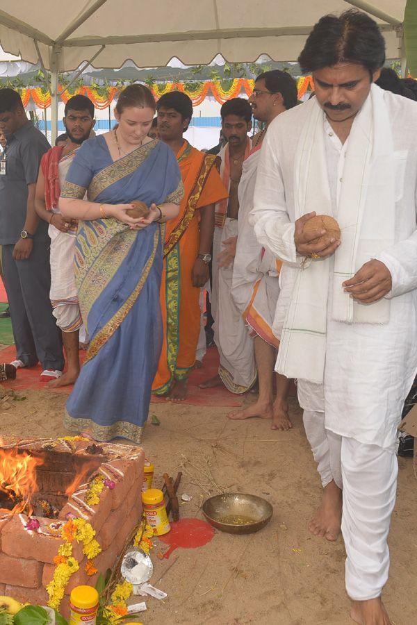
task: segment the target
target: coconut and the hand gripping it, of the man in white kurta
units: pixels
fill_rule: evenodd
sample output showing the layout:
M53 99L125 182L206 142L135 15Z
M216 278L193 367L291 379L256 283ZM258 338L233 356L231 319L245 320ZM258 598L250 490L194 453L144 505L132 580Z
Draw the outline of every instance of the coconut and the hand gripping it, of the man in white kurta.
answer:
M295 222L294 242L300 256L327 258L341 244L341 230L333 217L307 213Z

